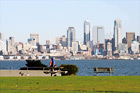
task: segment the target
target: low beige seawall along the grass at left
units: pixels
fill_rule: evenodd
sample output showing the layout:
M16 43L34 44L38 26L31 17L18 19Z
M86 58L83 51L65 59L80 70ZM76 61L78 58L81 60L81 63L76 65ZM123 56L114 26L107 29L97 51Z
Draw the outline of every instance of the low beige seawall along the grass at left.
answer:
M0 70L0 77L18 76L51 76L51 74L45 74L43 70Z

